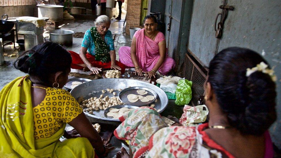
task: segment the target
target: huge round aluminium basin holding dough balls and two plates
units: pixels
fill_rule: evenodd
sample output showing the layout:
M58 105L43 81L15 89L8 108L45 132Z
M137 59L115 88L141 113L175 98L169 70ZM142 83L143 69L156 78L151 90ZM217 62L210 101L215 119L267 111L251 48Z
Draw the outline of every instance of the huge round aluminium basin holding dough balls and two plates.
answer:
M168 97L166 93L156 85L152 85L147 82L138 81L134 79L96 79L92 81L88 81L86 83L82 83L81 85L78 85L73 90L70 91L70 94L74 96L74 98L77 100L79 97L83 96L84 99L89 99L91 97L97 96L99 97L100 94L103 94L101 90L106 90L107 88L113 88L114 92L116 92L116 96L118 96L119 91L118 89L125 89L128 87L148 87L149 89L153 90L157 95L157 102L153 103L155 104L154 108L157 110L160 109L159 113L165 110L165 108L168 106ZM113 93L106 92L104 96L112 97ZM114 106L113 106L114 107ZM86 109L86 108L85 108ZM104 117L104 110L94 111L94 115L85 113L89 117L93 117L95 119L101 119L106 121L112 121L109 118Z

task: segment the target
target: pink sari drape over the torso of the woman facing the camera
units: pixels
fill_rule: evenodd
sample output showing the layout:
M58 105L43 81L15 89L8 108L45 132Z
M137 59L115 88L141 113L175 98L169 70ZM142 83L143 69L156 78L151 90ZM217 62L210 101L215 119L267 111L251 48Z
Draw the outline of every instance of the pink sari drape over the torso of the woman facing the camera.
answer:
M145 36L144 31L143 28L134 35L136 37L136 55L138 56L139 66L143 68L143 71L151 71L160 58L158 43L163 41L165 37L159 36L155 42Z

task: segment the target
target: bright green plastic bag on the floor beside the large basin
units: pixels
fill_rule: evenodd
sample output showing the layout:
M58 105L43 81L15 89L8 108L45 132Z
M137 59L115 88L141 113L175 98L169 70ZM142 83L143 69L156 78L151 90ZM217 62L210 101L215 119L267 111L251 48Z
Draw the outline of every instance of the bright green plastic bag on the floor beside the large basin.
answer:
M176 86L176 105L187 105L192 98L192 81L181 79Z

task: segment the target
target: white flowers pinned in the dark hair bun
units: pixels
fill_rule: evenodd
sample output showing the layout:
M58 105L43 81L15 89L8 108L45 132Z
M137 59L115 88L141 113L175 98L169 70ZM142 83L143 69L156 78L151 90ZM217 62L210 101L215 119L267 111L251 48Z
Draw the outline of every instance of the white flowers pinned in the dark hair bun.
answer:
M257 64L256 67L247 68L246 76L249 77L252 73L254 73L256 71L261 71L263 73L268 74L271 77L272 81L274 81L274 82L277 80L277 77L274 74L274 70L269 69L268 65L265 64L264 62L261 62L261 63Z

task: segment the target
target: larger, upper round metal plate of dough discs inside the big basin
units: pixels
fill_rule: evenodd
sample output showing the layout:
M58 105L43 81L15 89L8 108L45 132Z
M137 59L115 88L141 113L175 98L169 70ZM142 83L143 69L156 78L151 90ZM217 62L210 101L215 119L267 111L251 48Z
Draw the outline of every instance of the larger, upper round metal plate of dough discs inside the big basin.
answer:
M136 92L137 90L140 90L140 89L147 91L147 94L143 95L143 97L151 95L151 96L154 96L154 99L153 100L149 100L148 102L142 102L142 101L140 101L140 99L138 101L136 101L136 102L129 102L127 96L129 94L140 95L140 94L138 94L138 92ZM155 99L157 98L157 94L153 90L151 90L149 88L146 88L146 87L130 87L130 88L126 88L126 89L122 90L119 93L118 98L122 102L124 102L124 103L126 103L128 105L145 106L145 105L149 105L149 104L153 103L155 101Z

